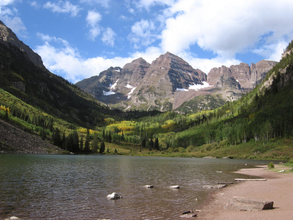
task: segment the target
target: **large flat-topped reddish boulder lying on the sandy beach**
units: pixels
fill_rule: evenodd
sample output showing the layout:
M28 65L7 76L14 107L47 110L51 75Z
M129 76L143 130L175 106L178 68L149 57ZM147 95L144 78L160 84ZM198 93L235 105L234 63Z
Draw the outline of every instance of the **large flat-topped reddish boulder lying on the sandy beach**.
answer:
M224 206L224 209L230 211L260 211L263 209L272 209L274 202L255 201L244 197L233 196Z

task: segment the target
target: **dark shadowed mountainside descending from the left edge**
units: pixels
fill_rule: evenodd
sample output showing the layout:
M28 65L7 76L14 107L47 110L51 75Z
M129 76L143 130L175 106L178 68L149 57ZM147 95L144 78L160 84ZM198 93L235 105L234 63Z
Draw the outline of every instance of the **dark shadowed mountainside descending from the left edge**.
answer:
M103 123L108 109L90 94L51 73L41 57L0 21L0 87L53 116L83 126ZM9 100L0 100L12 108ZM10 104L9 104L10 103Z

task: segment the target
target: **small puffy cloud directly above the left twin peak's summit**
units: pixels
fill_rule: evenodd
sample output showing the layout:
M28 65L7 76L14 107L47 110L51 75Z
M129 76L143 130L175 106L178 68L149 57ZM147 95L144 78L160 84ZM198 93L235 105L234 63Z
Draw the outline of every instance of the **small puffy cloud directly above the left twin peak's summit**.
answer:
M132 25L132 33L128 35L128 39L134 43L134 48L140 48L140 45L148 46L157 38L157 36L152 33L154 29L155 25L152 21L142 19Z

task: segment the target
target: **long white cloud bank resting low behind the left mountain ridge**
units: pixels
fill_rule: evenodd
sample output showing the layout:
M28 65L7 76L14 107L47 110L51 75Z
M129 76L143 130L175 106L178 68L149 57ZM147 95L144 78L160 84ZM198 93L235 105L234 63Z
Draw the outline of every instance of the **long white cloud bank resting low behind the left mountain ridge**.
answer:
M128 57L104 57L83 58L79 51L72 47L66 40L38 33L37 36L44 41L43 45L37 46L34 51L38 53L46 68L57 75L62 75L71 82L99 75L100 72L110 66L123 67L138 57L143 57L151 62L161 54L160 48L149 47L144 52L136 52Z

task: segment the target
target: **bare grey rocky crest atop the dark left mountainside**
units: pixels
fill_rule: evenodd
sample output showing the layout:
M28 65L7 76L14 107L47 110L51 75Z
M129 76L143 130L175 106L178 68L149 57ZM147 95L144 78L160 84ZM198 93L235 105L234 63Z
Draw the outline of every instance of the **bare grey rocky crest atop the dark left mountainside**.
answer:
M45 68L42 58L33 50L31 50L29 46L25 45L24 42L20 41L13 33L13 31L10 28L7 28L2 21L0 21L0 41L2 41L2 43L6 44L7 46L9 44L16 46L19 50L25 52L27 57L29 57L29 59L33 61L34 64Z

